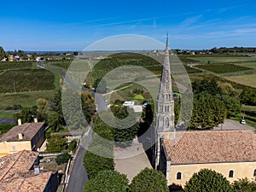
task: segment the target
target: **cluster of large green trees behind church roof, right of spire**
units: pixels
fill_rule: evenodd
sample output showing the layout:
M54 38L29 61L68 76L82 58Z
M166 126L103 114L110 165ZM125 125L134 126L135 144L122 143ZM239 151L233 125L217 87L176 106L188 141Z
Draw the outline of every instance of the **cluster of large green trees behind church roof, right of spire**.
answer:
M236 117L241 112L239 93L231 84L218 84L213 80L195 80L192 82L194 106L189 119L185 115L183 121L189 130L211 130L224 119ZM183 99L182 96L179 99ZM175 102L175 115L180 113L179 99Z

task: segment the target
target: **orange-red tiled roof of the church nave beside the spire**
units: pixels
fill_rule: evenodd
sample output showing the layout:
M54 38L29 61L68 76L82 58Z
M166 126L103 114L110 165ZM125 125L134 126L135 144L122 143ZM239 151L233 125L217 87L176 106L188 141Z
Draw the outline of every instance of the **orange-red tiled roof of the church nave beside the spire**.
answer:
M177 131L164 145L171 164L256 161L253 131Z

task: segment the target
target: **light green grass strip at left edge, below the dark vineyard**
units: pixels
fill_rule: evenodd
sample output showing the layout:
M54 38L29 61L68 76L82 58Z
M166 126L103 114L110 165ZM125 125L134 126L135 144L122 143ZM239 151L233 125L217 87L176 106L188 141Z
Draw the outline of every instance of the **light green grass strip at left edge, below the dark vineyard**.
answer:
M13 106L15 104L22 107L32 107L37 104L39 98L49 99L55 94L54 90L44 90L17 94L0 94L0 109Z

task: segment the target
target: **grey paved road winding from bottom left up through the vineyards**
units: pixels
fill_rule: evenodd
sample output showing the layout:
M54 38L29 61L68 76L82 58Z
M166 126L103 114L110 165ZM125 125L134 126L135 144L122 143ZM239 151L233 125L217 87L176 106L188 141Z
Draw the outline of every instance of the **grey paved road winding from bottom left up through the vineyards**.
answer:
M69 77L67 76L67 74L59 69L55 69L52 67L46 67L43 66L43 61L38 62L38 67L42 67L42 68L46 68L52 71L55 71L57 73L61 73L61 75L64 77L64 79L66 80L66 82L70 85L72 85L73 87L77 88L78 90L82 89L82 90L88 90L90 91L90 93L95 96L96 99L96 104L97 104L97 111L103 111L103 110L108 110L108 103L105 102L105 98L104 96L102 96L101 94L95 93L92 90L86 89L84 87L81 88L80 85L78 84L74 84ZM79 148L79 152L75 157L75 161L73 164L73 171L72 174L69 178L68 184L67 184L67 192L83 192L84 191L84 183L88 182L88 177L87 177L87 172L84 169L84 165L83 165L83 158L84 158L84 154L86 152L86 148L88 143L90 142L91 139L91 132L92 129L90 129L90 132L88 134L88 137L84 140L84 142L81 144L80 148Z

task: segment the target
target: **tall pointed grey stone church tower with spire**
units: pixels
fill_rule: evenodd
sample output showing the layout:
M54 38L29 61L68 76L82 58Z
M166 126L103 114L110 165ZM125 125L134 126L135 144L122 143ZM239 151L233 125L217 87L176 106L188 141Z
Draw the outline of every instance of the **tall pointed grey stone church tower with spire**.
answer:
M160 90L156 100L155 128L158 138L156 144L156 167L160 162L161 140L168 139L174 128L174 100L172 96L171 68L169 60L168 35L166 37L166 50L163 71L160 81Z

